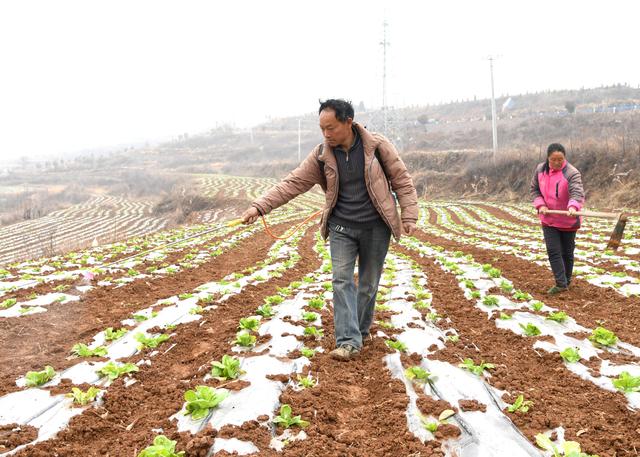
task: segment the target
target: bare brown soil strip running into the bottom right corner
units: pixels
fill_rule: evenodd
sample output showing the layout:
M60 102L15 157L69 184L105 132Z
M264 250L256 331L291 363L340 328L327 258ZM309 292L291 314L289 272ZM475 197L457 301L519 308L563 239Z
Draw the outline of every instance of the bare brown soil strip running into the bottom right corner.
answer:
M558 354L534 351L532 338L498 329L484 312L464 298L454 275L445 273L431 259L421 258L408 249L399 250L410 255L426 272L438 313L445 314L453 327L473 342L467 344L461 337L458 344L448 345L434 356L456 364L467 357L476 363L481 360L494 363L496 368L487 378L490 384L510 392L511 398L522 393L534 402L529 413L510 415L531 441L535 434L562 425L567 431L566 438L579 441L583 451L601 457L636 455L634 446L640 437L636 431L638 418L627 409L623 394L599 389L575 376L564 367ZM616 420L611 421L611 417ZM585 426L591 433L578 438L577 432Z

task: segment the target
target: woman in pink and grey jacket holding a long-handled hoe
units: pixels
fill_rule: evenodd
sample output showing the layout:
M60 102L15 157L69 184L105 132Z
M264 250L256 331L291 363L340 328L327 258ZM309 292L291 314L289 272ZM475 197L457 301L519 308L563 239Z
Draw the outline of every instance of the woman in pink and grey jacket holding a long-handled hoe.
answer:
M531 180L531 197L542 223L547 255L556 280L548 293L564 292L571 283L576 231L582 222L575 213L584 204L584 190L580 172L567 162L561 144L550 144L547 161L536 167ZM569 211L570 215L548 214L550 209Z

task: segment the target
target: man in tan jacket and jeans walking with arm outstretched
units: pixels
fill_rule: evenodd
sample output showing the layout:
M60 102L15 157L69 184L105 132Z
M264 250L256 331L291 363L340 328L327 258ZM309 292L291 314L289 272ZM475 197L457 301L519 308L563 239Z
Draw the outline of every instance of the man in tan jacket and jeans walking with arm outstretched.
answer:
M369 335L378 283L391 233L412 234L418 198L411 176L394 146L353 122L351 103L326 100L318 110L324 144L316 146L298 168L254 201L242 215L251 224L262 214L320 184L326 203L320 222L329 238L333 266L333 320L336 349L331 357L358 355ZM391 187L391 188L390 188ZM402 218L396 209L400 203ZM354 267L358 259L358 287Z

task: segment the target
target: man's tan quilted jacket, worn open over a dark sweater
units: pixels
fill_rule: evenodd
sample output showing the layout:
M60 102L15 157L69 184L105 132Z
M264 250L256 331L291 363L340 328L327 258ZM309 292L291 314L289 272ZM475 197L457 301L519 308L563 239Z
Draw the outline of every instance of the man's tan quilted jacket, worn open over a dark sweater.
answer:
M407 171L398 151L384 136L369 133L362 126L353 123L360 133L364 146L364 180L373 206L378 210L382 219L391 228L393 236L400 239L402 234L402 222L416 223L418 220L418 196L413 185L413 180ZM375 151L383 163L380 166ZM333 148L326 143L319 154L320 145L316 146L307 158L280 183L272 187L265 195L253 202L253 206L261 214L268 214L275 208L284 205L289 200L305 193L315 184L320 184L325 192L325 205L320 220L321 233L326 239L329 236L327 220L333 211L338 199L338 166ZM320 162L324 162L321 167ZM324 168L324 173L322 168ZM398 197L402 218L398 215L396 200L389 189L388 176L391 188Z

